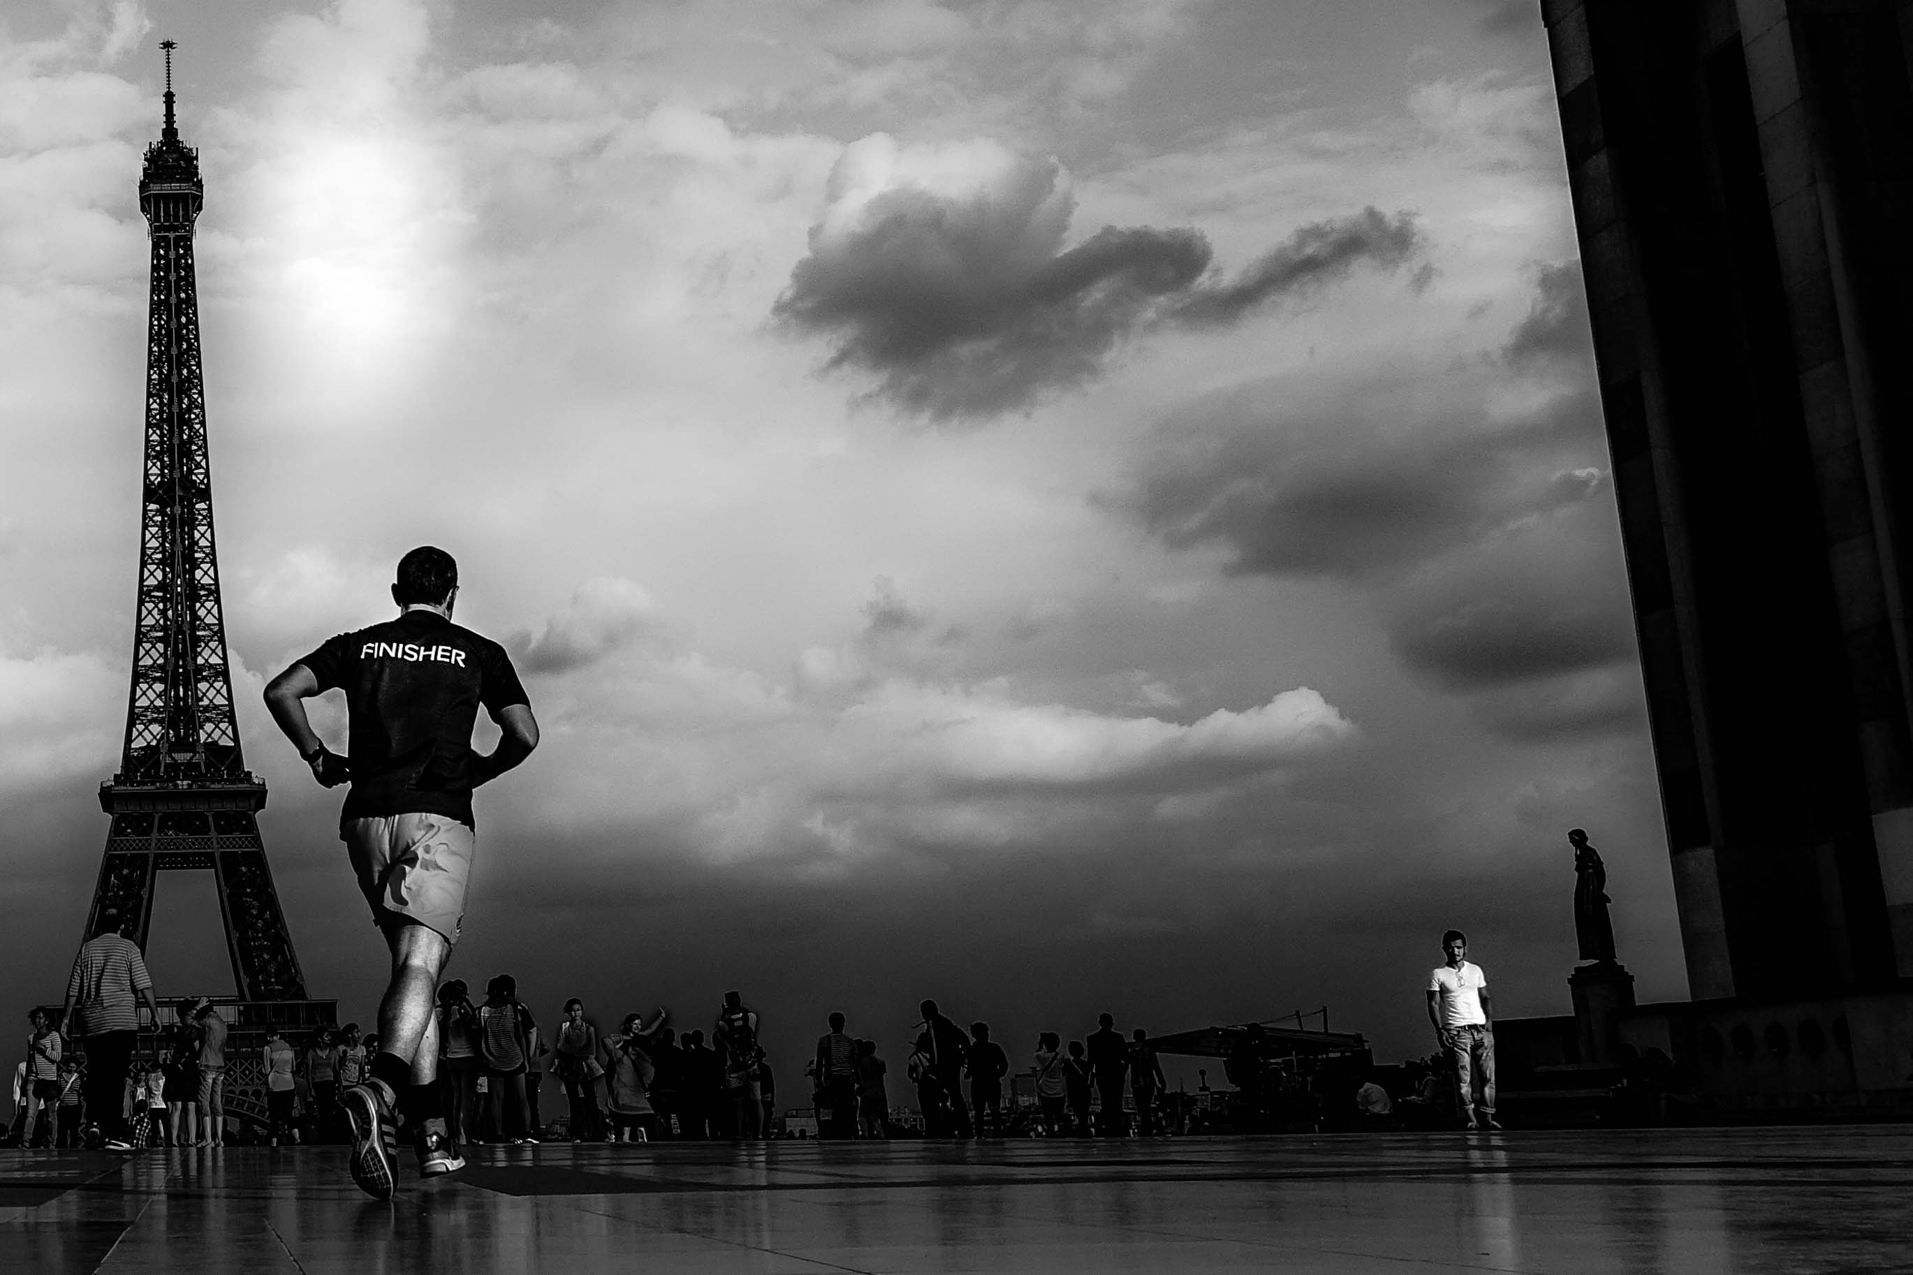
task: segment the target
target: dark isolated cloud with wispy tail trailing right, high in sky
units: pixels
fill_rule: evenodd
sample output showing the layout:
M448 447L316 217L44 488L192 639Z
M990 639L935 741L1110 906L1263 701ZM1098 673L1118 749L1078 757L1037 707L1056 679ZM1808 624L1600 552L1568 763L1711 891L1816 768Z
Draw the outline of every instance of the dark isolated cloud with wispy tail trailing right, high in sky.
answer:
M874 373L874 394L905 411L983 419L1094 378L1127 336L1228 327L1421 245L1412 214L1364 208L1222 279L1209 239L1186 227L1106 226L1064 250L1067 208L1054 162L1020 161L964 199L888 189L813 229L771 315L830 338L828 369Z

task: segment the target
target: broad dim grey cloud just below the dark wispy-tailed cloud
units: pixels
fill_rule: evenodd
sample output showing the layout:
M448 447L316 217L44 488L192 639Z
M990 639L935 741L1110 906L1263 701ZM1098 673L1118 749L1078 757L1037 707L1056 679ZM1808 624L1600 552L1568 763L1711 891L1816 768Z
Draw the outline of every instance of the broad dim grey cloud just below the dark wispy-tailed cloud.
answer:
M1238 573L1362 577L1584 499L1594 482L1590 394L1502 424L1437 378L1286 398L1249 386L1171 422L1134 489L1108 503L1171 549L1226 547Z

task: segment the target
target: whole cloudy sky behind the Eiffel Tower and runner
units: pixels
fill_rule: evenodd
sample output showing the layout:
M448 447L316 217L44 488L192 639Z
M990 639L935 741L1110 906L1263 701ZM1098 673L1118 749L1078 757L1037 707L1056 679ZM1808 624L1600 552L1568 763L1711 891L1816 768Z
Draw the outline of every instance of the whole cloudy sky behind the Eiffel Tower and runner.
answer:
M258 690L417 543L545 730L455 971L547 1015L740 986L786 1076L920 996L1018 1057L1322 1004L1419 1053L1446 925L1567 1009L1571 826L1685 996L1534 8L10 4L0 1015L124 730L163 36L241 726L348 1017L383 954ZM230 986L210 877L159 906L163 990Z

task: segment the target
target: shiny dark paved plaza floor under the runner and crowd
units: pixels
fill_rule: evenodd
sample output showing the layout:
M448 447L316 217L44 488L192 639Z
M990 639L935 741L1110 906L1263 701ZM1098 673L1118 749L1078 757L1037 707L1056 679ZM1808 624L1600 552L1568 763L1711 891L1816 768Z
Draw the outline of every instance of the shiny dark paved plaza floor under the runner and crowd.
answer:
M409 1168L409 1166L407 1166ZM0 1153L0 1271L1913 1271L1913 1130Z

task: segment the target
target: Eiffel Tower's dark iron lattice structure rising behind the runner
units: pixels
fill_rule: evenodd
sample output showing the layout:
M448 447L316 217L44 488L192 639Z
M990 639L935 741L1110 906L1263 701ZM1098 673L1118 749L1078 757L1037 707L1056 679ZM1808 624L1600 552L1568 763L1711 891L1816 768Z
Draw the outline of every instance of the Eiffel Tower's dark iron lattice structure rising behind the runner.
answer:
M239 1000L304 1002L306 979L258 835L266 784L245 768L226 667L193 281L205 184L199 151L180 141L172 115L174 42L161 48L166 117L140 174L153 277L132 694L121 770L99 786L113 824L86 935L99 933L111 908L136 921L132 937L145 948L157 874L210 868Z

